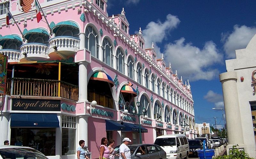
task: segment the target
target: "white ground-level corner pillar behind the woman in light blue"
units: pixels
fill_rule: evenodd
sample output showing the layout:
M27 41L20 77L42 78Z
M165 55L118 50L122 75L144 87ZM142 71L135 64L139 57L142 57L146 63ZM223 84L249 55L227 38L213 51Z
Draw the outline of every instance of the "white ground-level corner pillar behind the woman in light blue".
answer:
M78 142L80 140L84 140L84 144L88 146L88 117L87 116L79 116L79 127L78 127ZM90 148L89 148L90 150Z

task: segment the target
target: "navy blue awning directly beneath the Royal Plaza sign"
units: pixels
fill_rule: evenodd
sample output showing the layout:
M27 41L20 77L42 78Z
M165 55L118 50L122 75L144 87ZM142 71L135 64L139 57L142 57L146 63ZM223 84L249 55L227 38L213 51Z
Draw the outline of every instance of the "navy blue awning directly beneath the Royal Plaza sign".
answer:
M57 114L11 113L11 127L60 127Z

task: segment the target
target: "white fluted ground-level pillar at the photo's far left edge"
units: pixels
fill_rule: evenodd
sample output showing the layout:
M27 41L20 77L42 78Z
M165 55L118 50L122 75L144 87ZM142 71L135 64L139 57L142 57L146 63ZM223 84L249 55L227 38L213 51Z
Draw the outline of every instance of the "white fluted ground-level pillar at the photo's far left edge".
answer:
M5 140L9 140L11 139L10 136L10 114L3 114L0 115L0 145L4 145L4 141Z

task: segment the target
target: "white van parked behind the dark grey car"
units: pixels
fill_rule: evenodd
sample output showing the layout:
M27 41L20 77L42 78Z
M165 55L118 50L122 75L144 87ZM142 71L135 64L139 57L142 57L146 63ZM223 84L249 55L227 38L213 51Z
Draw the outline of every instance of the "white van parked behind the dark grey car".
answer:
M184 134L158 136L154 144L163 148L168 159L188 158L188 139Z

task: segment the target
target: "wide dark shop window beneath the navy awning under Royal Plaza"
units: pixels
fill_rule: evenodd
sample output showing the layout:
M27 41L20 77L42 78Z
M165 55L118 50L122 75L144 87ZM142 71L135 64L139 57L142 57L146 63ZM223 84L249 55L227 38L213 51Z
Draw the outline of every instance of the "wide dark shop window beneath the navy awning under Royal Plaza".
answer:
M10 145L35 148L55 156L56 128L11 128Z

